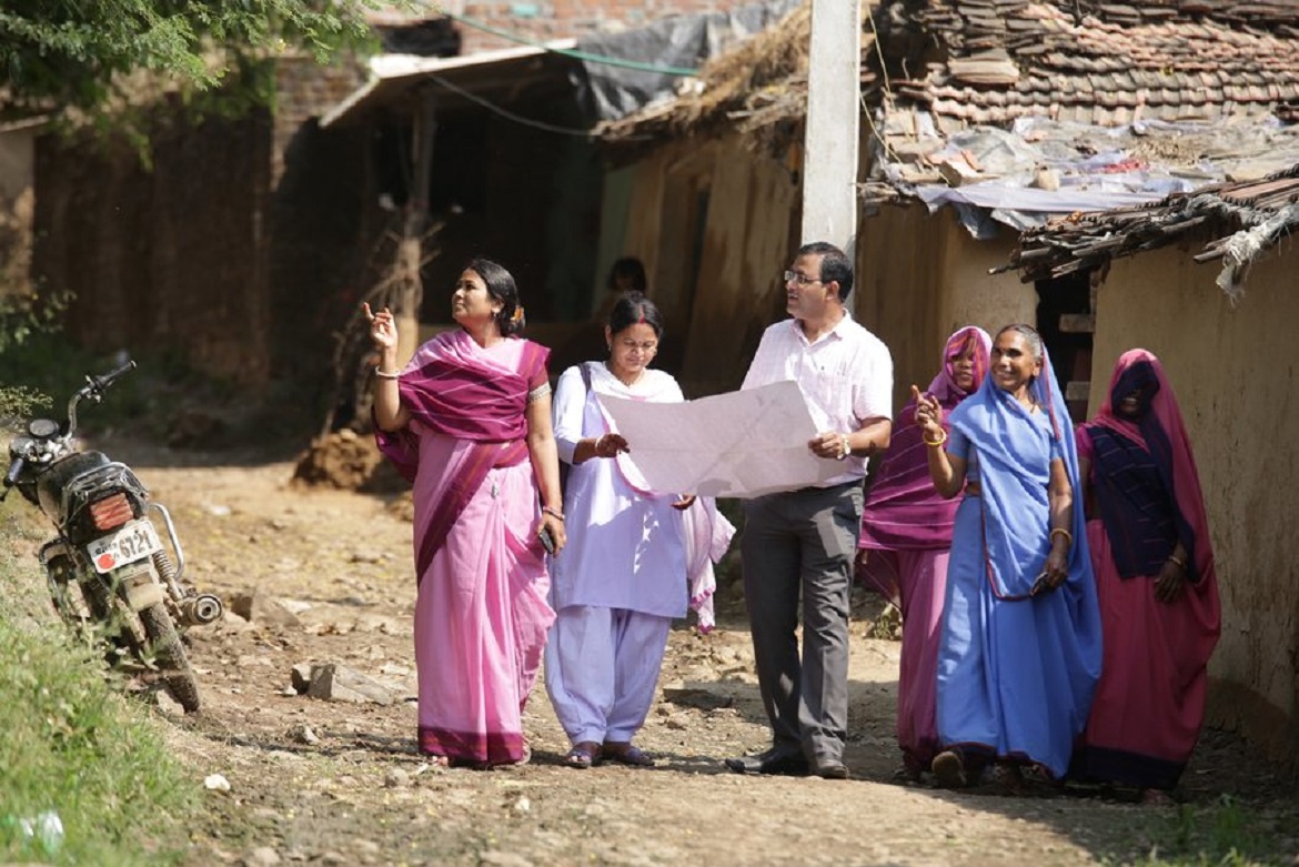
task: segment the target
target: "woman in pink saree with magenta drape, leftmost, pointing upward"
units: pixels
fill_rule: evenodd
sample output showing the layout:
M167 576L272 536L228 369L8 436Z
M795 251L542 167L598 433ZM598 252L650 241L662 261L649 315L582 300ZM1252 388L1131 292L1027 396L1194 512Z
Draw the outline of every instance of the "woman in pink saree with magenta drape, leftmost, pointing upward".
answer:
M521 763L522 711L555 618L542 536L556 550L565 541L549 352L517 336L518 289L488 260L456 283L460 328L400 371L392 314L366 314L381 354L375 436L414 483L420 751L440 764Z

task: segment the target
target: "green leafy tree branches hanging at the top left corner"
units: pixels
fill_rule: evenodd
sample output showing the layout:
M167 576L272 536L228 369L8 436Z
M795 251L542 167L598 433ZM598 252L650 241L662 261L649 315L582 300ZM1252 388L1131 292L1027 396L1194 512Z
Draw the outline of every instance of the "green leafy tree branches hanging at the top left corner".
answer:
M212 90L288 49L323 61L369 38L381 0L0 0L0 99L8 113L101 114L127 77ZM407 4L399 4L407 5Z

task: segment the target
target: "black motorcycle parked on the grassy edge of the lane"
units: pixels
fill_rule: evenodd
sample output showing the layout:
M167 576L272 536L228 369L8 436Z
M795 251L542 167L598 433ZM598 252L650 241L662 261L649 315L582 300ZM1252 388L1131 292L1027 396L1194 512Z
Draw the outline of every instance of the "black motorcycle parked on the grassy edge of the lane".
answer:
M83 635L105 639L118 662L156 671L192 713L199 710L199 685L177 626L217 620L221 600L182 583L184 553L171 515L149 500L131 469L103 452L82 450L75 439L78 405L97 404L134 369L127 361L101 376L86 376L87 384L68 402L64 424L31 419L26 435L9 445L0 500L16 487L53 522L58 535L40 548L40 562L60 617Z

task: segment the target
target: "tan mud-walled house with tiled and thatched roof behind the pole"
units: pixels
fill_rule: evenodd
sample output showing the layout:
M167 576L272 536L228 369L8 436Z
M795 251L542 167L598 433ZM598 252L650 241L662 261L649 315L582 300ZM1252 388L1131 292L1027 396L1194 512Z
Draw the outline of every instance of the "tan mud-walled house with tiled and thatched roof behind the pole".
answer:
M804 6L712 61L688 96L603 127L601 248L647 262L669 328L685 334L688 393L739 384L763 328L783 315L781 270L813 240L796 236L808 31ZM1299 164L1299 8L898 0L865 4L861 44L852 309L892 350L896 405L963 324L1035 324L1076 421L1121 350L1160 354L1196 446L1224 587L1211 719L1293 764L1293 173L1251 184ZM1220 202L1246 201L1221 219L1208 205L1178 210L1222 183L1244 186L1217 187ZM1244 222L1226 213L1255 201L1267 205ZM1086 223L1095 231L1073 254L1056 247L1068 221L1020 248L1021 234L1092 212L1120 217ZM1148 226L1157 213L1163 234L1124 230L1124 214ZM1233 304L1220 269L1195 254L1215 231L1269 218L1283 228L1237 270L1248 288ZM1120 249L1134 254L1108 265Z

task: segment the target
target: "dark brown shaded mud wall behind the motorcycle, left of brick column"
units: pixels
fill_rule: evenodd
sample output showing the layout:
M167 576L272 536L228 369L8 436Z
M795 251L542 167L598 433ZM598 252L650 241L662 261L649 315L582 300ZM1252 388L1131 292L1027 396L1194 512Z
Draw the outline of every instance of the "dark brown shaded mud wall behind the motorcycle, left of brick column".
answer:
M149 152L43 136L35 161L40 286L75 300L66 334L132 354L174 349L238 382L265 378L261 219L270 121L173 123Z

